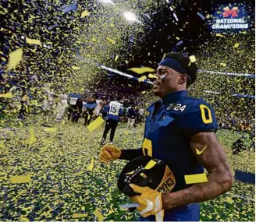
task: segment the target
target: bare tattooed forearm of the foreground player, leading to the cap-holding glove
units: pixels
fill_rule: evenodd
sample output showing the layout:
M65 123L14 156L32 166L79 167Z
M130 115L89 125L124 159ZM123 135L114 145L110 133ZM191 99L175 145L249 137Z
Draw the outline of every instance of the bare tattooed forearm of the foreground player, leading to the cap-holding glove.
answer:
M191 186L178 192L162 195L163 209L182 206L189 203L200 203L213 199L228 192L233 184L233 176L229 172L225 174L215 173L208 175L208 182Z

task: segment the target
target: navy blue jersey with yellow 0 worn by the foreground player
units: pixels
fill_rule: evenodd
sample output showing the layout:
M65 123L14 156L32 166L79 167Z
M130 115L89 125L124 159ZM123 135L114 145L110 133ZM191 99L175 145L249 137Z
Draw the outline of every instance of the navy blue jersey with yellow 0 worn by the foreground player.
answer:
M191 150L190 137L197 132L217 130L212 107L202 99L188 97L184 90L170 93L151 104L146 116L144 155L165 160L168 164L175 177L171 192L188 188L190 185L186 185L184 175L204 172ZM165 211L165 220L169 219L168 212L172 218L172 211Z

